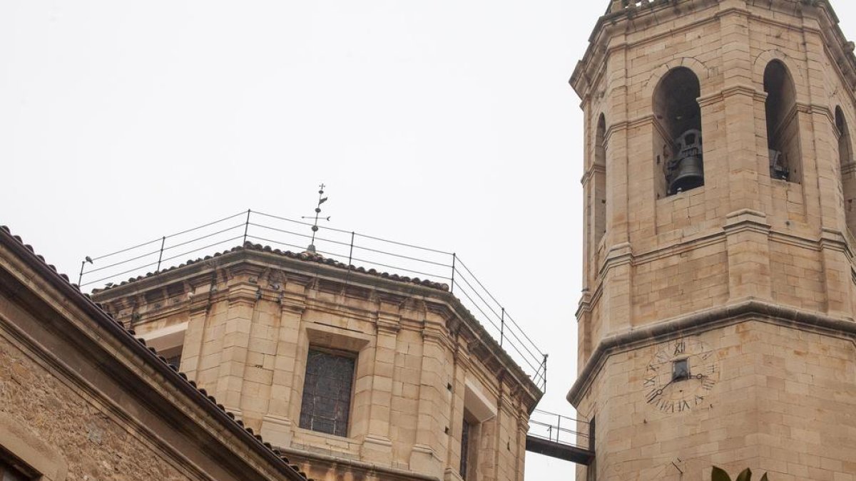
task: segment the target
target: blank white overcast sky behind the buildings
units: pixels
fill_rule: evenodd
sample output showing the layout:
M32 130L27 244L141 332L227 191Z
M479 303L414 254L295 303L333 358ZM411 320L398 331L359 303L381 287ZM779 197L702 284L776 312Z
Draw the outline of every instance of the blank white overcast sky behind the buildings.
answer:
M571 414L582 127L607 0L4 0L0 223L80 259L252 208L455 251ZM837 2L856 38L856 5ZM527 479L573 465L529 455Z

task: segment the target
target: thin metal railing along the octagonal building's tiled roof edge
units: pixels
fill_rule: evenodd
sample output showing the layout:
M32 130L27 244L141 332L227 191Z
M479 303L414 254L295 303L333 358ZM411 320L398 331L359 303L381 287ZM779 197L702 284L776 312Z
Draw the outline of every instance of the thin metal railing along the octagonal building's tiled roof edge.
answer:
M241 211L193 229L162 235L80 263L80 288L111 287L163 268L245 242L304 252L312 240L312 223L259 211ZM514 359L542 391L547 385L547 354L541 352L502 303L484 287L455 252L447 252L353 230L318 226L316 252L354 267L443 282L477 318L490 336ZM88 267L88 269L87 269Z

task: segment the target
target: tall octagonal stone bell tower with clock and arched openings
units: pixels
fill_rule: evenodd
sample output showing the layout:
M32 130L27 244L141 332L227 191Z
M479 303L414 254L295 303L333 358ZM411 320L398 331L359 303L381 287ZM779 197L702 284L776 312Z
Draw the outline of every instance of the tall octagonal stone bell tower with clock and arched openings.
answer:
M856 479L856 57L824 0L615 0L585 112L577 479Z

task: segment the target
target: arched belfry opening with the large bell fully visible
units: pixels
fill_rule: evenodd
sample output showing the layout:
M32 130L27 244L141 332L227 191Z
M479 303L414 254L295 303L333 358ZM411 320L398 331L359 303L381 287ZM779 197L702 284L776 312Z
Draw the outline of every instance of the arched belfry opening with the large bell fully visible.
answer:
M663 77L654 94L654 155L663 167L666 195L704 186L698 77L686 67Z

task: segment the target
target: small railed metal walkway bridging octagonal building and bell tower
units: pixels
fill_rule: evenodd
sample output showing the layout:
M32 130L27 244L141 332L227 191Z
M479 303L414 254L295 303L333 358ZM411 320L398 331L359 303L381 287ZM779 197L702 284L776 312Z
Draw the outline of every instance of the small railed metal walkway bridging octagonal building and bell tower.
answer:
M594 460L594 423L536 409L526 451L588 466Z

